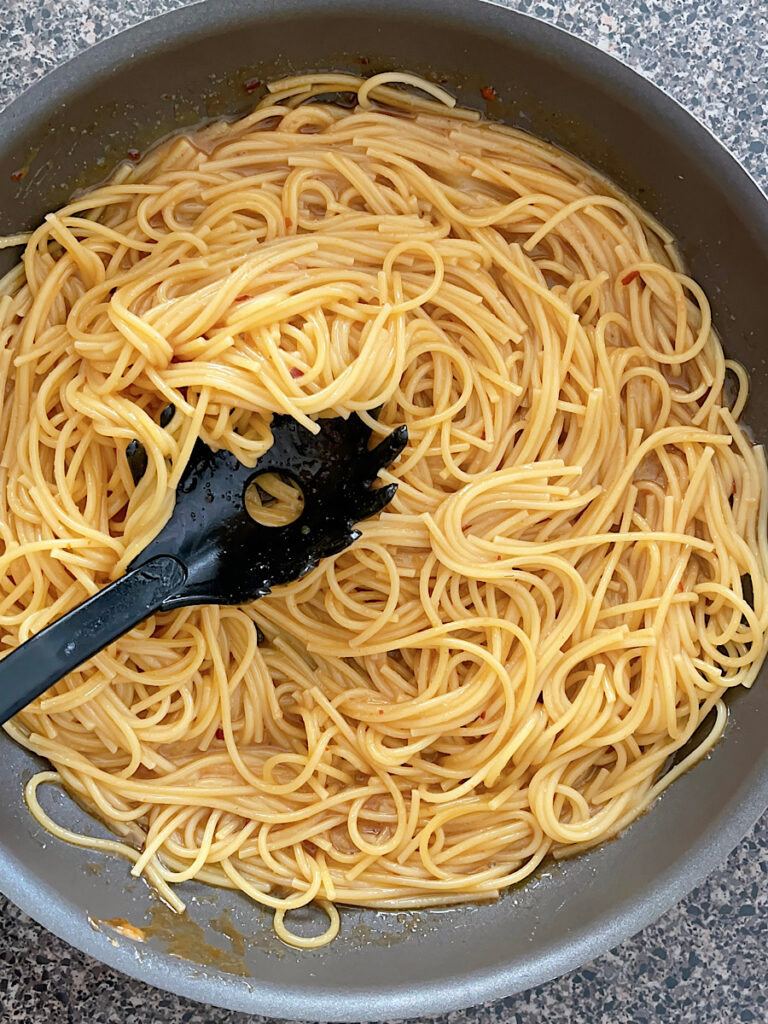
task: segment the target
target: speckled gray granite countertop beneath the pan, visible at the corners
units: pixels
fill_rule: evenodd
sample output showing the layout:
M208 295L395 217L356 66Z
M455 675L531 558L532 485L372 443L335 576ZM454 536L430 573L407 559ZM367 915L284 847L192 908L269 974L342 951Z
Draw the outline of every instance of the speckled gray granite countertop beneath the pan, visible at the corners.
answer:
M766 0L507 2L596 43L663 86L768 187ZM0 106L98 40L181 6L184 0L3 0ZM768 815L705 885L634 939L548 985L436 1020L763 1024L768 1022L767 936ZM131 981L54 938L0 897L2 1024L252 1019Z

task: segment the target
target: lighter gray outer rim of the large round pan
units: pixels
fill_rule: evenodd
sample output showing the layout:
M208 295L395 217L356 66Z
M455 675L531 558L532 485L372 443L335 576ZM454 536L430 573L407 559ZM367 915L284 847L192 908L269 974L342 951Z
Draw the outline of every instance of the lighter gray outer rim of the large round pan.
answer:
M724 187L733 188L750 205L756 224L768 239L768 203L749 172L682 104L615 57L563 29L493 0L451 0L447 3L420 0L418 10L410 6L409 0L393 0L393 6L398 11L415 15L418 12L421 17L458 15L467 22L475 17L481 23L485 16L492 22L496 19L501 31L511 32L518 27L521 31L549 36L552 45L559 47L566 57L592 62L609 78L620 80L624 89L634 89L643 98L647 97L648 103L660 108L681 133L707 147L708 156L724 177ZM481 7L485 8L484 14ZM85 82L108 74L117 65L126 63L132 53L157 48L172 34L180 40L191 39L211 27L223 26L227 19L230 24L238 17L243 22L258 22L279 8L283 11L294 8L304 13L321 9L351 13L360 10L360 3L358 0L266 0L254 8L241 0L203 0L140 23L52 70L0 112L0 147L7 145L33 118L39 118L41 106L59 106L68 94ZM727 736L723 742L728 742ZM26 871L24 864L1 845L0 891L39 924L85 953L132 978L201 1002L293 1020L360 1021L431 1016L550 981L647 927L702 882L768 807L768 752L742 778L739 793L742 799L734 799L726 805L706 836L664 874L656 877L652 887L646 885L640 896L626 899L610 912L591 921L589 928L568 935L547 956L538 953L513 964L500 962L473 974L457 974L447 985L442 980L426 982L418 991L404 986L380 987L374 991L371 987L344 991L316 986L286 989L262 982L254 987L247 980L207 974L199 965L164 953L152 951L151 955L139 959L132 947L113 947L100 941L84 915L75 919L62 893Z

